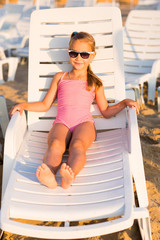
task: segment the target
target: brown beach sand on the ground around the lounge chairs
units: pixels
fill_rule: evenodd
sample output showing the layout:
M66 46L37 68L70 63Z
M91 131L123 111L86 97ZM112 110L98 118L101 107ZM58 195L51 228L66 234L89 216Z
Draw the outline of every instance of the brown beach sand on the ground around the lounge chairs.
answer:
M124 17L128 11L124 9ZM27 80L28 63L19 64L15 81L5 82L0 85L0 94L4 95L7 101L8 111L17 103L27 101ZM160 85L160 81L157 83ZM146 101L147 86L144 88ZM149 198L149 213L151 220L152 239L160 239L160 112L157 112L157 103L148 104L141 109L138 115L139 133L144 160L146 185ZM0 143L4 144L2 133L0 132ZM0 177L2 176L3 159L0 155ZM0 184L1 185L1 184ZM44 223L48 224L48 223ZM19 235L4 232L2 240L35 240L37 238L22 237ZM137 222L134 225L120 233L107 236L98 236L89 238L90 240L140 240ZM88 239L88 240L89 240ZM87 239L86 239L87 240Z

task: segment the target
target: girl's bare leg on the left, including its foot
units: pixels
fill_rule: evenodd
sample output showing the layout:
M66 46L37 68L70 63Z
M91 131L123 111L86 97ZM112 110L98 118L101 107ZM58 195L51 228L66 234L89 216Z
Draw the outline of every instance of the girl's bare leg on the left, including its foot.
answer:
M61 123L53 125L48 134L48 149L44 161L38 167L36 176L39 181L49 188L56 188L55 174L61 164L62 155L71 137L69 129Z

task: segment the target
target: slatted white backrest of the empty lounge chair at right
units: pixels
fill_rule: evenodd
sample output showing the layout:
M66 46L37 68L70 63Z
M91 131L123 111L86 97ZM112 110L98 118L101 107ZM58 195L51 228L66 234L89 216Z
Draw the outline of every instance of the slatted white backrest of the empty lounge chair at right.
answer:
M124 29L125 72L150 73L160 59L160 11L132 10Z

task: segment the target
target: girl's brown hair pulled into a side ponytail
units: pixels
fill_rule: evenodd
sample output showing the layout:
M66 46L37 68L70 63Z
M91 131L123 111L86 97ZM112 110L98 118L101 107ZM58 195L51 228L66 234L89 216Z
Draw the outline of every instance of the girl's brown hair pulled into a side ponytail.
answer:
M73 44L74 41L79 40L79 39L84 39L85 41L88 41L88 44L91 46L92 51L95 51L95 40L93 38L93 36L87 32L73 32L71 34L71 39L69 42L69 48L71 47L71 45ZM87 68L87 89L91 90L93 85L95 86L95 88L99 88L102 86L102 82L101 80L93 73L91 66L89 65Z

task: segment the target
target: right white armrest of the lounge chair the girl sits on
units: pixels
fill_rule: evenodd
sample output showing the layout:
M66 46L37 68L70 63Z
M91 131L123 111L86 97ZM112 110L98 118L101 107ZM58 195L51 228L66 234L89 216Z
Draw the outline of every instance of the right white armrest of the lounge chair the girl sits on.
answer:
M131 170L135 181L137 197L140 207L148 206L147 189L145 183L145 174L143 166L143 158L141 151L141 143L139 137L137 115L135 109L128 110L128 143L129 143L129 160L131 162Z

